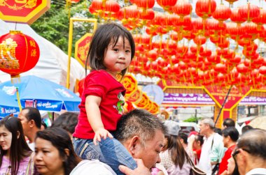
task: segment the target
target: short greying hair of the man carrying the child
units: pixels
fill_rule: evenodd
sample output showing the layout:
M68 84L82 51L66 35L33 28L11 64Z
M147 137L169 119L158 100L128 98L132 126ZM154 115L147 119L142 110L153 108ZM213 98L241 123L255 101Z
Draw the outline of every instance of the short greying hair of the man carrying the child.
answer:
M153 114L144 109L133 109L118 121L114 136L120 142L125 142L134 135L139 135L141 143L145 145L146 141L155 136L156 130L167 133L166 126Z

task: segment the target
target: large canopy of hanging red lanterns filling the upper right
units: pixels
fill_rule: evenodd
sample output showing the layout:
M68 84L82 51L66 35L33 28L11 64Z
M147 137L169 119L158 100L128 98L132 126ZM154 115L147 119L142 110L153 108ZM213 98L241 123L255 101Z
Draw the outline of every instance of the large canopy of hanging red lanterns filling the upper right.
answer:
M237 0L195 0L195 9L188 0L130 0L105 10L109 1L92 1L89 9L137 33L131 73L187 86L265 86L264 8L250 2L232 8ZM155 12L155 3L164 12Z

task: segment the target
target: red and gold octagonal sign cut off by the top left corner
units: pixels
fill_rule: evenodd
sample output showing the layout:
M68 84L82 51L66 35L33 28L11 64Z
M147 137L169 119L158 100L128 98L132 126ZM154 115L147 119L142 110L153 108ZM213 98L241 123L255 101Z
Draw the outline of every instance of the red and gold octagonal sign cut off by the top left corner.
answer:
M50 8L50 0L0 0L0 19L32 24Z

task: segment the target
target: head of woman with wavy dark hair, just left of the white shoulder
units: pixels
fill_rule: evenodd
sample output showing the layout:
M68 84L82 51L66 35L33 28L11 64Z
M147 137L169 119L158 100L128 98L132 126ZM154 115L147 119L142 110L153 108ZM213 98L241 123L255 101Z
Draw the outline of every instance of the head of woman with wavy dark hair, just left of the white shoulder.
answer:
M37 132L34 163L39 174L69 175L80 161L66 130L48 128Z

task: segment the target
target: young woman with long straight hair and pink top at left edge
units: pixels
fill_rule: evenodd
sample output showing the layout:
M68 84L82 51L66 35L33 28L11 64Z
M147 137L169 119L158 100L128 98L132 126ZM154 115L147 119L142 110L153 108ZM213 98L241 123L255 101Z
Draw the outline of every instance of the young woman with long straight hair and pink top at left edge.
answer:
M6 116L0 121L0 145L0 174L36 174L33 155L18 118Z

